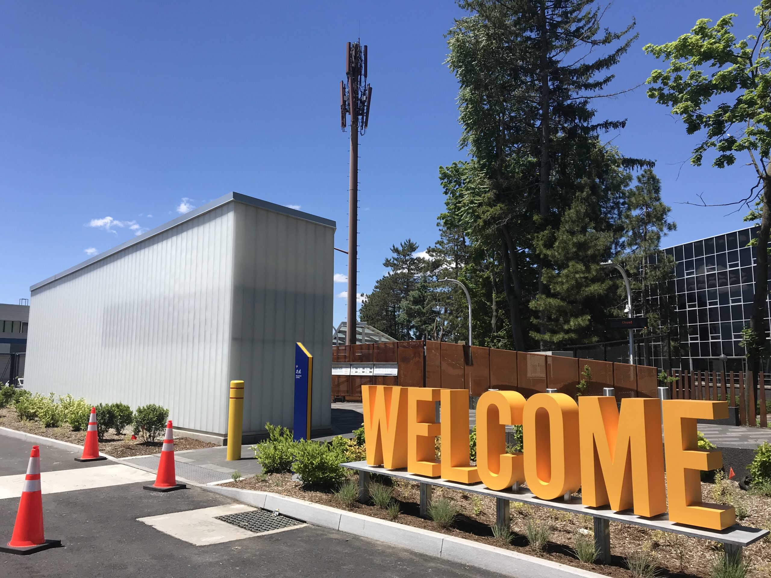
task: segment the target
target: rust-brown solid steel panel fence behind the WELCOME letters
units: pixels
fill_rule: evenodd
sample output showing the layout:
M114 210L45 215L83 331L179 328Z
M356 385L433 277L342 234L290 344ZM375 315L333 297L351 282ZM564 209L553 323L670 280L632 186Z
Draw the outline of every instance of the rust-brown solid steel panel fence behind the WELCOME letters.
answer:
M396 375L382 375L389 372L386 366ZM556 388L574 396L587 366L591 378L586 380L584 395L602 395L603 388L615 388L619 399L658 395L658 370L647 365L439 341L395 341L333 346L332 398L360 400L362 385L469 389L473 396L491 388L508 389L520 391L526 398ZM374 368L372 373L361 375L370 371L369 367ZM351 375L341 375L348 371L346 368L350 368Z

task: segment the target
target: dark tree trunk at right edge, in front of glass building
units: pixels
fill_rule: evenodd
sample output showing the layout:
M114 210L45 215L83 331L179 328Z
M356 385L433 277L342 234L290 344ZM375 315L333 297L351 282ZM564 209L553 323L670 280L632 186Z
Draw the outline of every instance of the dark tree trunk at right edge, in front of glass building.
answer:
M752 317L749 319L749 328L752 333L763 338L763 344L766 341L766 298L768 297L768 272L769 272L769 230L771 230L771 175L766 172L763 180L763 212L760 217L760 228L758 230L758 244L755 247L755 297L752 301ZM764 348L765 351L765 348ZM758 388L763 384L758 383L760 357L756 351L747 352L747 365L749 371L752 371L752 381L755 387L755 399L758 399ZM755 424L752 424L755 425Z

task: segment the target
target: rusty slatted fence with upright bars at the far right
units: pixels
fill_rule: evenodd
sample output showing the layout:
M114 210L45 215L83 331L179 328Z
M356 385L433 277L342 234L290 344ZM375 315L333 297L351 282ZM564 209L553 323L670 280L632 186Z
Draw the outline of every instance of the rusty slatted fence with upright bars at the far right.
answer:
M768 425L766 386L763 372L758 375L758 399L755 399L752 371L678 371L670 372L672 399L728 400L730 408L739 407L741 425Z

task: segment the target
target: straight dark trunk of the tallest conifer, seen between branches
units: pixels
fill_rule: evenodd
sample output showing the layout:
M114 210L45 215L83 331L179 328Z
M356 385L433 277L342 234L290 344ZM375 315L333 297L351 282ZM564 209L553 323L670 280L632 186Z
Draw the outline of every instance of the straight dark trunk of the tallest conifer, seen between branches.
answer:
M546 1L540 2L540 171L538 174L539 213L541 227L546 227L548 196L549 196L549 40L546 20ZM538 261L538 294L544 295L543 281L544 261ZM539 316L538 332L546 334L546 314L543 310ZM540 348L544 349L544 339L540 340Z

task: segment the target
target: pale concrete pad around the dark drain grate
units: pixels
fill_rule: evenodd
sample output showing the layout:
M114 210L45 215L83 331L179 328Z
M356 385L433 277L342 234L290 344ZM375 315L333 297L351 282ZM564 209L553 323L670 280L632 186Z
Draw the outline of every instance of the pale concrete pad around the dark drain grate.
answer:
M194 546L207 546L208 544L220 544L257 536L257 534L249 530L214 519L217 516L251 512L252 510L254 508L244 504L228 504L227 506L214 506L212 508L188 510L187 512L174 512L173 514L163 514L161 516L137 518L136 521L153 526L153 528L164 534Z

